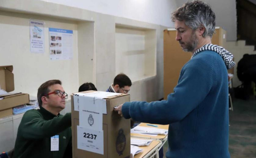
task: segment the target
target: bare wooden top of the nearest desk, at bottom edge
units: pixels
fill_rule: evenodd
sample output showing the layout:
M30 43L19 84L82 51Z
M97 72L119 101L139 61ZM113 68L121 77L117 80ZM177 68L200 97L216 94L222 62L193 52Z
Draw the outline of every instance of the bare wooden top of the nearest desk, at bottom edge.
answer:
M136 154L134 158L159 158L158 149L161 145L162 142L160 140L153 140L149 146L139 146L139 148L143 150Z

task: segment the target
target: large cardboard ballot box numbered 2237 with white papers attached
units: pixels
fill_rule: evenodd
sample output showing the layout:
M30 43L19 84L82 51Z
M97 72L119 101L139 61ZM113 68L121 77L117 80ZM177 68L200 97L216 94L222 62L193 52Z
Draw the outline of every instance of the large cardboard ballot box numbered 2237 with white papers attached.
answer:
M73 158L129 158L130 119L114 106L129 94L86 91L71 95Z

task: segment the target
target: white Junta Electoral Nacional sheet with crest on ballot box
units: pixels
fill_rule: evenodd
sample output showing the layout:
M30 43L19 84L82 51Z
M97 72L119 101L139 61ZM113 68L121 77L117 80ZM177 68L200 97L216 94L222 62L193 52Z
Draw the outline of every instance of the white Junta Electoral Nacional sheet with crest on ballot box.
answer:
M78 96L78 98L79 126L102 131L102 109L106 107L106 100L88 96Z

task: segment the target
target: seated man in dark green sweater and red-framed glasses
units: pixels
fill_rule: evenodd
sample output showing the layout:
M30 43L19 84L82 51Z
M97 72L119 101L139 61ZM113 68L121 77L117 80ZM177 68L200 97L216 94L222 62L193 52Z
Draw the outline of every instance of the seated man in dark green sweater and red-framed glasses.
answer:
M13 158L71 158L71 113L59 114L67 99L61 81L43 83L37 98L40 109L28 110L21 119Z

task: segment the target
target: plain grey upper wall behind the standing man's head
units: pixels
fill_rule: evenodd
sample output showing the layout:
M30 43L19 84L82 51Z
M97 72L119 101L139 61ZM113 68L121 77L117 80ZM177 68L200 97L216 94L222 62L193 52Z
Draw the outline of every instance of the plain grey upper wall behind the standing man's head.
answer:
M176 0L177 7L188 0ZM236 0L202 0L211 5L216 16L216 26L227 31L227 41L236 41Z

